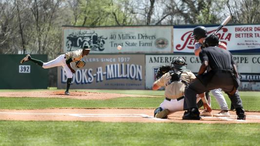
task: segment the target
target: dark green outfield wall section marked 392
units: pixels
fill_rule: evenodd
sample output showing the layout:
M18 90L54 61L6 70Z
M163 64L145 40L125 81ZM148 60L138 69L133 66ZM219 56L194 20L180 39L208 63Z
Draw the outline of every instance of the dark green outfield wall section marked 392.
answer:
M1 84L0 89L47 89L48 70L27 61L20 64L25 55L0 55ZM47 61L47 55L34 55L35 58Z

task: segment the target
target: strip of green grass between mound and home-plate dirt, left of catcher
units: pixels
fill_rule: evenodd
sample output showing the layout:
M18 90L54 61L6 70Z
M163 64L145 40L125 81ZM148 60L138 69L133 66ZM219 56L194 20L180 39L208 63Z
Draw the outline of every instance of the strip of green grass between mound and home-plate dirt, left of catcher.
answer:
M162 97L123 97L109 100L81 100L70 98L1 97L0 109L48 108L155 108Z

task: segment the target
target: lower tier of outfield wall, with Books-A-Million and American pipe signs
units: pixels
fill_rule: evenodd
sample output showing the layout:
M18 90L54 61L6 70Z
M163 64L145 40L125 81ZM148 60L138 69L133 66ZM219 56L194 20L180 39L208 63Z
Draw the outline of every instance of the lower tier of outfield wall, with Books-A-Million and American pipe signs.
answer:
M86 65L73 76L72 89L151 89L161 65L175 57L187 61L187 69L197 73L200 58L195 55L97 55L84 57ZM233 55L240 73L240 90L260 91L260 55ZM66 74L58 68L58 88L66 88Z

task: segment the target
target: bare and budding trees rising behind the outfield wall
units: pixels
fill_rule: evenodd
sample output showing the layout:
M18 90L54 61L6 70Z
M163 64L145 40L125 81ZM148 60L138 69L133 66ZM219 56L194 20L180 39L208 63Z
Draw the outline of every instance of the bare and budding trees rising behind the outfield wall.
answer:
M0 54L61 51L62 25L260 23L260 0L0 0Z

